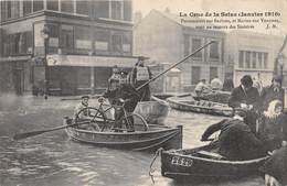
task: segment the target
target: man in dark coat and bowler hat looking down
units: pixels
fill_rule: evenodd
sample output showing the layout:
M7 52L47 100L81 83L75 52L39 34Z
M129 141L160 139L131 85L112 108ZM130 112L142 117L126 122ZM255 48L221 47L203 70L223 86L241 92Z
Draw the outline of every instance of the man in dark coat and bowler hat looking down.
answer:
M258 90L253 87L253 80L249 75L245 75L241 79L241 85L231 92L228 106L232 108L242 108L249 110L247 112L246 122L252 131L256 131L256 119L261 108L261 97Z

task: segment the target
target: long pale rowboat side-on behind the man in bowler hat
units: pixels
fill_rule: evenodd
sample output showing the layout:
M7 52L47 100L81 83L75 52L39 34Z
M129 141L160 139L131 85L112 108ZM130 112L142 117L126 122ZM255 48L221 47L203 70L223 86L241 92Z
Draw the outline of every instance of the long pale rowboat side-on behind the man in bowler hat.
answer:
M172 109L177 109L177 110L225 116L225 117L231 117L233 114L233 109L227 105L205 101L205 100L196 101L191 96L171 97L168 98L167 101L169 102L169 106Z

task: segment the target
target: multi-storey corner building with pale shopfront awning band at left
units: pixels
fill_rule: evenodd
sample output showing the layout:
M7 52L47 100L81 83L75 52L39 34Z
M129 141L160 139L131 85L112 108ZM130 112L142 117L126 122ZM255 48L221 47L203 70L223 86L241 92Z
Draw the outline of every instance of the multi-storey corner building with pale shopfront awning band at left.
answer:
M75 95L107 87L113 66L131 68L131 0L0 1L2 91L47 84Z

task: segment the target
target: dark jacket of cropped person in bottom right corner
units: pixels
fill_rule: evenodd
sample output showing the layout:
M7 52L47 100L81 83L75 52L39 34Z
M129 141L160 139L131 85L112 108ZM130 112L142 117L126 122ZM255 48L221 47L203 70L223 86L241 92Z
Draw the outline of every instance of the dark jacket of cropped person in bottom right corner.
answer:
M275 177L281 185L287 184L287 146L275 152L261 168L265 174Z

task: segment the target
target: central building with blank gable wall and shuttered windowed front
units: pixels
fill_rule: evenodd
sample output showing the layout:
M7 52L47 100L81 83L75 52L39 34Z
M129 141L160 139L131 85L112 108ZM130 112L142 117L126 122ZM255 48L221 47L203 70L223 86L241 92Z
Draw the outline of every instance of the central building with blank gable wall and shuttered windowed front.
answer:
M180 17L169 11L152 10L134 26L134 54L172 64L215 41L178 66L181 84L184 90L190 90L202 78L224 78L224 36L220 31L198 30L181 23Z

